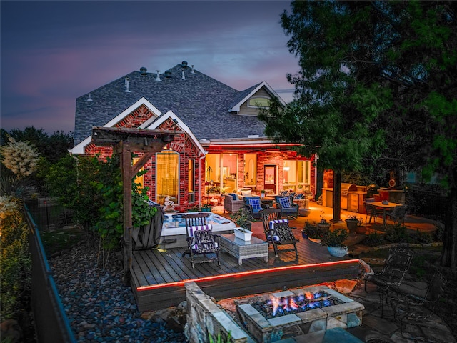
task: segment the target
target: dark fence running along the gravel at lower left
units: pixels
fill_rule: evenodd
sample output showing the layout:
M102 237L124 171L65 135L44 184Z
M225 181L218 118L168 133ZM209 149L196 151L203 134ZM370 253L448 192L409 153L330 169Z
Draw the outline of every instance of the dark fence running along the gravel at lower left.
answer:
M36 338L39 343L76 343L64 312L56 283L44 252L38 226L26 209L30 227L29 247L31 252L31 307L34 312Z

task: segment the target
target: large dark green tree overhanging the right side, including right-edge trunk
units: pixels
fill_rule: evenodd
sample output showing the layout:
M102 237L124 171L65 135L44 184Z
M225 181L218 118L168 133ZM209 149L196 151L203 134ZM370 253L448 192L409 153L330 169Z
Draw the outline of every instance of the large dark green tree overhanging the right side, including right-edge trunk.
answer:
M321 167L441 175L450 197L442 264L456 267L457 4L293 1L281 15L301 70L296 100L263 111L266 134Z

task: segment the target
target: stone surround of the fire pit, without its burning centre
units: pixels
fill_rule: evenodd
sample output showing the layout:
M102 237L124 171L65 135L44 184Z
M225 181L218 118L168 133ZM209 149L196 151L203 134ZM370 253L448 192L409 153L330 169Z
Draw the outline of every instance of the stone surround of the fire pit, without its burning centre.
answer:
M343 294L334 291L326 286L307 287L293 291L271 293L273 297L294 297L306 292L323 291L343 304L332 305L317 309L310 309L305 312L287 314L281 317L266 319L258 312L251 303L265 302L270 294L236 300L236 311L241 322L246 326L248 332L256 339L256 342L274 342L280 339L296 337L311 332L324 331L341 327L357 327L362 324L362 304L353 301Z

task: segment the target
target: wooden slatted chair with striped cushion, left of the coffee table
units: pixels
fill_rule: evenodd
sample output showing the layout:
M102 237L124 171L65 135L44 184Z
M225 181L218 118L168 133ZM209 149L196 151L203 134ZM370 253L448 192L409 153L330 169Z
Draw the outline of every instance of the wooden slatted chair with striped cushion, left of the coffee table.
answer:
M182 254L191 256L192 268L196 263L206 263L219 261L219 244L214 240L211 224L206 224L206 217L209 213L191 213L184 214L182 217L186 220L186 241L188 249ZM207 256L210 255L211 256ZM204 255L204 258L194 259L196 255Z

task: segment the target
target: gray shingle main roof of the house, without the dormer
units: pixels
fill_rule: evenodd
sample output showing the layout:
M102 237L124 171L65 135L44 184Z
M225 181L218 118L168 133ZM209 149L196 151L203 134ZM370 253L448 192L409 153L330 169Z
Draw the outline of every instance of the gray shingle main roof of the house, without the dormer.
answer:
M79 144L92 133L92 126L103 126L114 119L136 101L145 98L162 114L173 111L189 126L197 139L247 138L250 134L264 136L265 125L256 116L239 116L229 113L237 104L258 86L237 91L226 84L212 79L191 68L185 70L177 64L171 70L171 79L161 74L161 82L155 81L156 74L133 71L89 94L76 99L74 144ZM129 91L124 86L129 78Z

